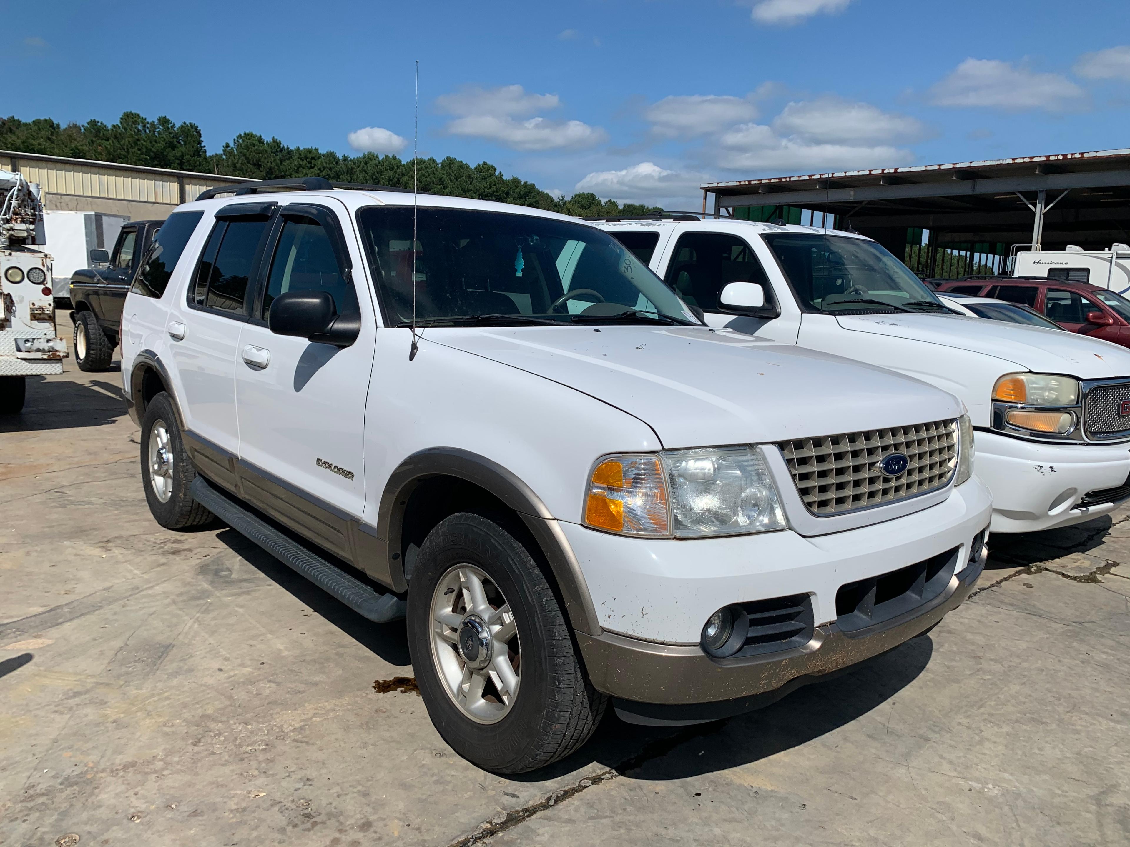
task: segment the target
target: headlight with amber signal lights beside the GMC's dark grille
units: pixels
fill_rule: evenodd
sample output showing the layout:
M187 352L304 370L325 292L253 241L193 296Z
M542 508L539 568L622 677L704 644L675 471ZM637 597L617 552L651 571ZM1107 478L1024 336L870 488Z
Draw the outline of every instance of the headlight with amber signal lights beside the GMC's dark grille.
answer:
M993 429L1045 437L1069 435L1079 420L1079 381L1072 376L1005 374L992 390Z

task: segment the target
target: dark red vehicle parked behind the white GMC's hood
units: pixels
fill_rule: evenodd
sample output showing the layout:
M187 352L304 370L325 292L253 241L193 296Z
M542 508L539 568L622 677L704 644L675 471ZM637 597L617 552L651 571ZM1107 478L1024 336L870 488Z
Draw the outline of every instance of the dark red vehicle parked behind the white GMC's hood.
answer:
M944 282L938 286L938 291L1020 303L1064 330L1130 347L1130 300L1087 282L1043 277L998 277Z

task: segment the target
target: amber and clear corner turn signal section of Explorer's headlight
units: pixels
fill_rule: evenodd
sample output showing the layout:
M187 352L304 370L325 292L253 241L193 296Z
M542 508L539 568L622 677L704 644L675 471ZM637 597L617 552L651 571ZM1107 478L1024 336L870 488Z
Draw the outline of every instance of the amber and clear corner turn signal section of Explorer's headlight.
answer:
M618 456L592 471L584 523L629 535L667 535L667 484L659 456Z

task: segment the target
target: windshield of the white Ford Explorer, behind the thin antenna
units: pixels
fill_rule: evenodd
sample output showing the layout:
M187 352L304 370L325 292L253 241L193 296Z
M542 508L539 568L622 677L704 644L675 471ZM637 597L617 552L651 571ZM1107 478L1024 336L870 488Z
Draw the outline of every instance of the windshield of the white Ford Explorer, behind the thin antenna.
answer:
M435 324L686 323L687 305L596 227L468 209L357 213L389 318ZM415 265L415 268L414 268Z

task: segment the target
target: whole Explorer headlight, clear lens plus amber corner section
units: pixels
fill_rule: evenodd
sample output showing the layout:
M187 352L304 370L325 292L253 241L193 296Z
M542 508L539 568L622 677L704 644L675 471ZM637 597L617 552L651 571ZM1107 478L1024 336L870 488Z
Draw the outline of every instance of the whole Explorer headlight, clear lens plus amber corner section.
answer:
M652 538L706 538L786 527L756 447L614 455L589 480L584 523Z

